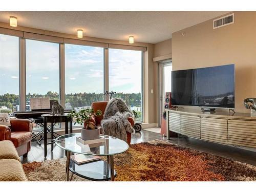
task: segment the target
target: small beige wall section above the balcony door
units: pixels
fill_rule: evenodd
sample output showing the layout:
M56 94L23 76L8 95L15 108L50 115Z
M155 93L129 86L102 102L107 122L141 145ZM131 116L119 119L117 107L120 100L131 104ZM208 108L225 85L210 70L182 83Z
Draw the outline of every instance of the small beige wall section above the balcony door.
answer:
M172 54L172 39L167 39L158 42L154 45L154 57L160 57L168 54Z

